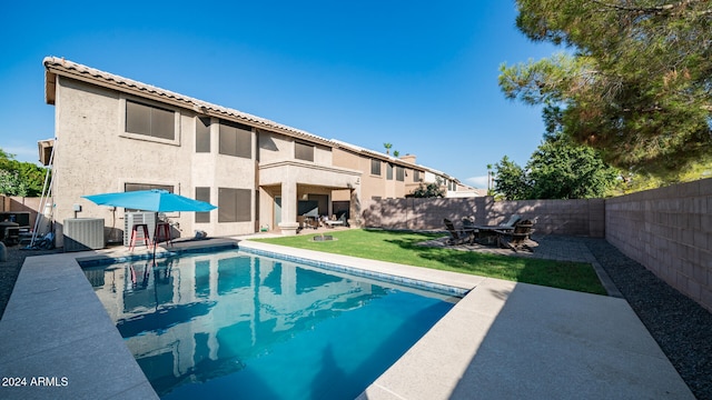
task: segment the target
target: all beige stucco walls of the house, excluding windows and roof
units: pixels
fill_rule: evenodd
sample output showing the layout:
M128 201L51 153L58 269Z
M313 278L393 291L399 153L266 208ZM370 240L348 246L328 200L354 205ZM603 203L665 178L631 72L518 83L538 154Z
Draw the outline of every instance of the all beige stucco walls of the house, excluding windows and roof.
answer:
M71 74L71 73L70 73ZM56 82L52 83L53 78ZM95 80L96 78L96 80ZM288 199L281 214L294 219L296 200L310 193L328 193L330 201L349 201L352 219L360 219L364 199L402 198L417 187L412 163L402 166L405 181L395 179L403 160L380 160L380 176L370 174L372 157L346 151L339 144L304 132L275 128L277 132L253 128L251 158L222 156L219 147L219 121L233 118L220 109L198 107L186 99L142 88L112 86L101 77L82 76L76 80L59 73L48 76L48 102L56 107L57 156L55 170L58 246L63 220L101 218L107 221L107 238L120 241L123 210L111 211L81 198L86 194L119 192L126 183L170 186L174 191L195 198L196 188L210 188L210 202L219 206L220 188L248 189L253 193L250 220L218 222L219 211L209 222L195 222L190 212L169 213L180 236L204 230L210 236L251 233L259 226L274 228L276 196ZM95 84L96 83L96 84ZM108 89L110 88L110 89ZM132 94L131 94L132 93ZM171 140L127 133L126 102L138 100L175 111L176 137ZM196 153L196 117L211 113L210 152ZM231 116L231 117L230 117ZM239 117L236 117L239 118ZM244 120L240 120L245 122ZM248 122L250 123L250 122ZM295 143L314 144L314 161L295 160ZM415 161L411 157L409 161ZM394 179L386 179L388 162ZM425 173L422 173L425 178ZM294 203L294 204L293 204ZM76 212L76 207L81 207ZM283 219L284 221L284 219ZM290 222L291 223L291 222Z

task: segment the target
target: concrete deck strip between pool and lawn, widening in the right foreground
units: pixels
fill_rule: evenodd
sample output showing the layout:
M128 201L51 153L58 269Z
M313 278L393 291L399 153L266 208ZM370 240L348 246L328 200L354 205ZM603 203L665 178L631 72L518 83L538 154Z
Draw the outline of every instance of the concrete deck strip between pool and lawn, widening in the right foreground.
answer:
M622 298L245 241L467 293L358 400L694 399ZM476 393L476 394L475 394Z

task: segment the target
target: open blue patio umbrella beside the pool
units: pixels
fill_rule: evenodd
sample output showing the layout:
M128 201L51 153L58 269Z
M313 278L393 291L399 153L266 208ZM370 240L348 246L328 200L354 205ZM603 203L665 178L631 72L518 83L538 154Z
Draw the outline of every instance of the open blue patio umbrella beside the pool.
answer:
M205 212L217 208L208 202L189 199L161 189L91 194L82 196L82 198L99 206L123 207L132 210L156 212Z

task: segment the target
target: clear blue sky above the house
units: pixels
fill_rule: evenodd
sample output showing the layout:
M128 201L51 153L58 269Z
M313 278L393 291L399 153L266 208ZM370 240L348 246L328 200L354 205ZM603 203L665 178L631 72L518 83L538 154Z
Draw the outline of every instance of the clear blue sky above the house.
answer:
M53 137L46 56L400 154L475 187L526 163L538 108L498 67L557 51L515 27L514 1L11 1L0 13L0 148L37 160Z

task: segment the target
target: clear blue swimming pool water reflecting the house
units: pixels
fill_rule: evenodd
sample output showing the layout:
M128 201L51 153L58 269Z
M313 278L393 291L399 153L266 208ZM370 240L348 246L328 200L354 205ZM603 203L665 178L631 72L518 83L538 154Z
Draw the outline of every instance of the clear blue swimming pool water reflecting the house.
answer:
M237 250L85 272L161 399L354 399L453 307Z

